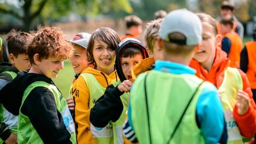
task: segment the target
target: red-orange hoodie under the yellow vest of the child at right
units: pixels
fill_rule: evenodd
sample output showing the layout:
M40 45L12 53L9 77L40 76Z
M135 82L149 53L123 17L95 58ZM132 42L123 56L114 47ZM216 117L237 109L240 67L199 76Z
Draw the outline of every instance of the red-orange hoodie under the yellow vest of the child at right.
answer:
M230 60L227 58L227 54L222 51L219 47L216 48L215 60L213 62L212 68L209 72L205 70L200 63L196 60L191 60L190 67L197 70L196 76L213 83L218 89L223 82L224 71L229 67ZM237 107L233 109L233 115L241 132L246 138L253 137L256 133L256 106L252 99L252 91L250 89L249 81L246 74L242 70L238 69L241 77L243 79L243 91L249 94L251 99L251 105L244 115L239 115L237 112Z

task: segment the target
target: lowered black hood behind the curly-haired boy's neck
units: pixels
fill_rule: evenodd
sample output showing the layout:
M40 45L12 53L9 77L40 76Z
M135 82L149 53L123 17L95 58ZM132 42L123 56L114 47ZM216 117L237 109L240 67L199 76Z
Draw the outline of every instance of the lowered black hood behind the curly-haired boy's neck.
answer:
M0 91L0 102L10 113L19 115L23 92L31 83L36 81L53 84L52 80L44 75L28 73L28 70L21 71L13 81L4 86Z

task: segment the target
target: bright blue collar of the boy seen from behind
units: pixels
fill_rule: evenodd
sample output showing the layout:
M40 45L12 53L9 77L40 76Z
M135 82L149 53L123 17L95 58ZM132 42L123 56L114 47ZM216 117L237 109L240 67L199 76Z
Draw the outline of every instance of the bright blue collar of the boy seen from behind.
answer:
M194 75L196 70L190 68L189 66L182 65L180 63L170 62L170 61L161 61L157 60L155 62L155 70L164 71L171 74L191 74Z

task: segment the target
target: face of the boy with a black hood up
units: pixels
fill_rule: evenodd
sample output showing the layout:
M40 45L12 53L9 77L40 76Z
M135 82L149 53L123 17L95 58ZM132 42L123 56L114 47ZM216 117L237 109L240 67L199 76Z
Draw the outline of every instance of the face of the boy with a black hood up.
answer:
M132 68L143 59L141 54L136 54L133 57L121 58L121 67L126 79L132 80Z

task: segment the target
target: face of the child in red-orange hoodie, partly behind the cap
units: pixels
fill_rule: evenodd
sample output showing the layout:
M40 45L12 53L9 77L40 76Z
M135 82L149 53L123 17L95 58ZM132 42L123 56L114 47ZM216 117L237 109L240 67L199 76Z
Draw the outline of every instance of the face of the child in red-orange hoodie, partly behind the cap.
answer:
M199 50L195 53L196 59L202 65L212 65L215 58L215 51L217 45L221 41L221 36L214 33L214 28L207 22L202 23L202 44Z

